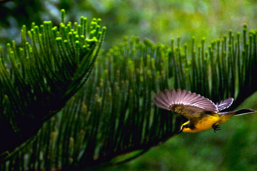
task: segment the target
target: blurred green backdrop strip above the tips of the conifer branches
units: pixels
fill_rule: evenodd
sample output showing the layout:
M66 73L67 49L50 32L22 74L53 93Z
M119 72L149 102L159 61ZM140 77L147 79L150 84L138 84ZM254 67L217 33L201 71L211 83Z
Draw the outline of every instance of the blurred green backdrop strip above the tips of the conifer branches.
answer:
M101 18L108 30L105 48L120 43L123 36L136 35L155 43L169 43L181 36L188 43L192 36L200 42L221 38L233 29L241 31L243 23L256 29L256 0L9 0L0 3L0 42L20 42L22 24L60 22L60 9L67 20Z

